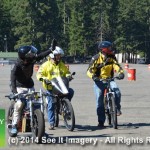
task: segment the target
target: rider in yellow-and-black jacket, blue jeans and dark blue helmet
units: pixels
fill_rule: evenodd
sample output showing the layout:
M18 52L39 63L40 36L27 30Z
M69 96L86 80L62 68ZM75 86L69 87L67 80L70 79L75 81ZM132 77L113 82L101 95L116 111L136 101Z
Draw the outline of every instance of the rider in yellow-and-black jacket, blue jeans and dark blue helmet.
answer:
M106 79L114 76L114 70L118 73L119 79L124 79L124 71L118 64L115 53L112 49L112 43L102 41L98 45L98 54L92 57L89 64L87 75L94 81L94 92L96 96L96 107L98 116L98 126L104 127L105 110L104 110L104 89L105 83L100 79ZM117 115L121 115L121 93L115 81L111 81L111 88L115 92Z

